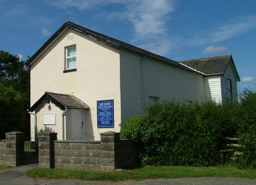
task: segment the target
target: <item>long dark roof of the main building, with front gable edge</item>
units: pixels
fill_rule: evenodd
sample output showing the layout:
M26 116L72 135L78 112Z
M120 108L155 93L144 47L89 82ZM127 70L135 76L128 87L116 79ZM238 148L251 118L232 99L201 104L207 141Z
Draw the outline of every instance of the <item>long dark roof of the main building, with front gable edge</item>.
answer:
M163 56L159 56L157 54L154 54L152 52L149 52L147 50L143 50L142 48L139 47L135 47L134 45L130 45L129 43L125 43L124 41L120 41L120 40L116 40L115 38L111 38L109 36L106 36L104 34L100 34L97 33L95 31L92 31L90 29L87 29L83 26L79 26L77 24L74 24L73 22L65 22L52 36L51 38L49 38L49 40L47 40L44 45L42 45L42 47L40 47L35 54L30 57L29 61L30 61L30 65L33 64L33 62L35 61L36 57L38 57L44 50L45 48L47 48L49 45L51 45L52 41L54 41L61 33L62 31L64 31L65 29L72 29L74 31L77 31L81 34L90 36L91 38L101 41L102 43L105 43L106 45L116 48L116 49L120 49L120 48L124 48L126 50L131 50L132 52L136 52L138 54L142 54L143 56L148 56L148 57L152 57L154 59L157 59L159 61L163 61L165 63L168 64L172 64L173 66L177 66L179 68L183 68L185 70L189 70L189 71L193 71L193 72L197 72L195 70L192 70L191 68L188 68L180 63L177 63L171 59L168 59L166 57Z

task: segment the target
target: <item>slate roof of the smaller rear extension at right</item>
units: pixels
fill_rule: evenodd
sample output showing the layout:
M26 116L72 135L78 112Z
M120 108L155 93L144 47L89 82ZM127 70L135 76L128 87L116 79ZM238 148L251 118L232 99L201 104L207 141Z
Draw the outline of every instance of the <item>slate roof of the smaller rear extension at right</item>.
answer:
M193 59L189 61L182 61L180 63L185 64L186 66L189 66L195 70L201 71L205 75L223 75L228 63L230 62L234 63L231 55ZM238 73L237 76L239 77Z

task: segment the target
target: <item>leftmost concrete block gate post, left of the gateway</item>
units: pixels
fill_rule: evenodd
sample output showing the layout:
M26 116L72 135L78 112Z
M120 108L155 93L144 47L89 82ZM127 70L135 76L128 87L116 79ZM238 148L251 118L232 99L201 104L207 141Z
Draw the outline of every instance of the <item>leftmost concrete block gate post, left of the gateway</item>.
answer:
M24 162L24 133L12 131L5 133L5 159L6 165L19 166Z

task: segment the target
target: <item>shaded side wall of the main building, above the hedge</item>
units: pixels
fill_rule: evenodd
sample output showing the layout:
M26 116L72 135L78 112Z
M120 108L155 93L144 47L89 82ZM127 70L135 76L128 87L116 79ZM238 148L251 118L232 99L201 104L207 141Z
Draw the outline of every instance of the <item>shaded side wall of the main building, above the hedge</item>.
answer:
M198 73L148 57L143 59L125 50L120 50L120 63L122 121L143 113L143 107L150 101L148 96L160 100L204 101L204 77Z

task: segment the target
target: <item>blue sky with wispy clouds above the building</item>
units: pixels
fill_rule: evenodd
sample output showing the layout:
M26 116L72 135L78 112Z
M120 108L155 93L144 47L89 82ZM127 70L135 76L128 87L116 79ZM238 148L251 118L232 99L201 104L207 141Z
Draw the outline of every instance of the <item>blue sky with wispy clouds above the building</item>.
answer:
M0 50L24 59L70 20L175 61L232 54L256 79L255 0L0 0Z

